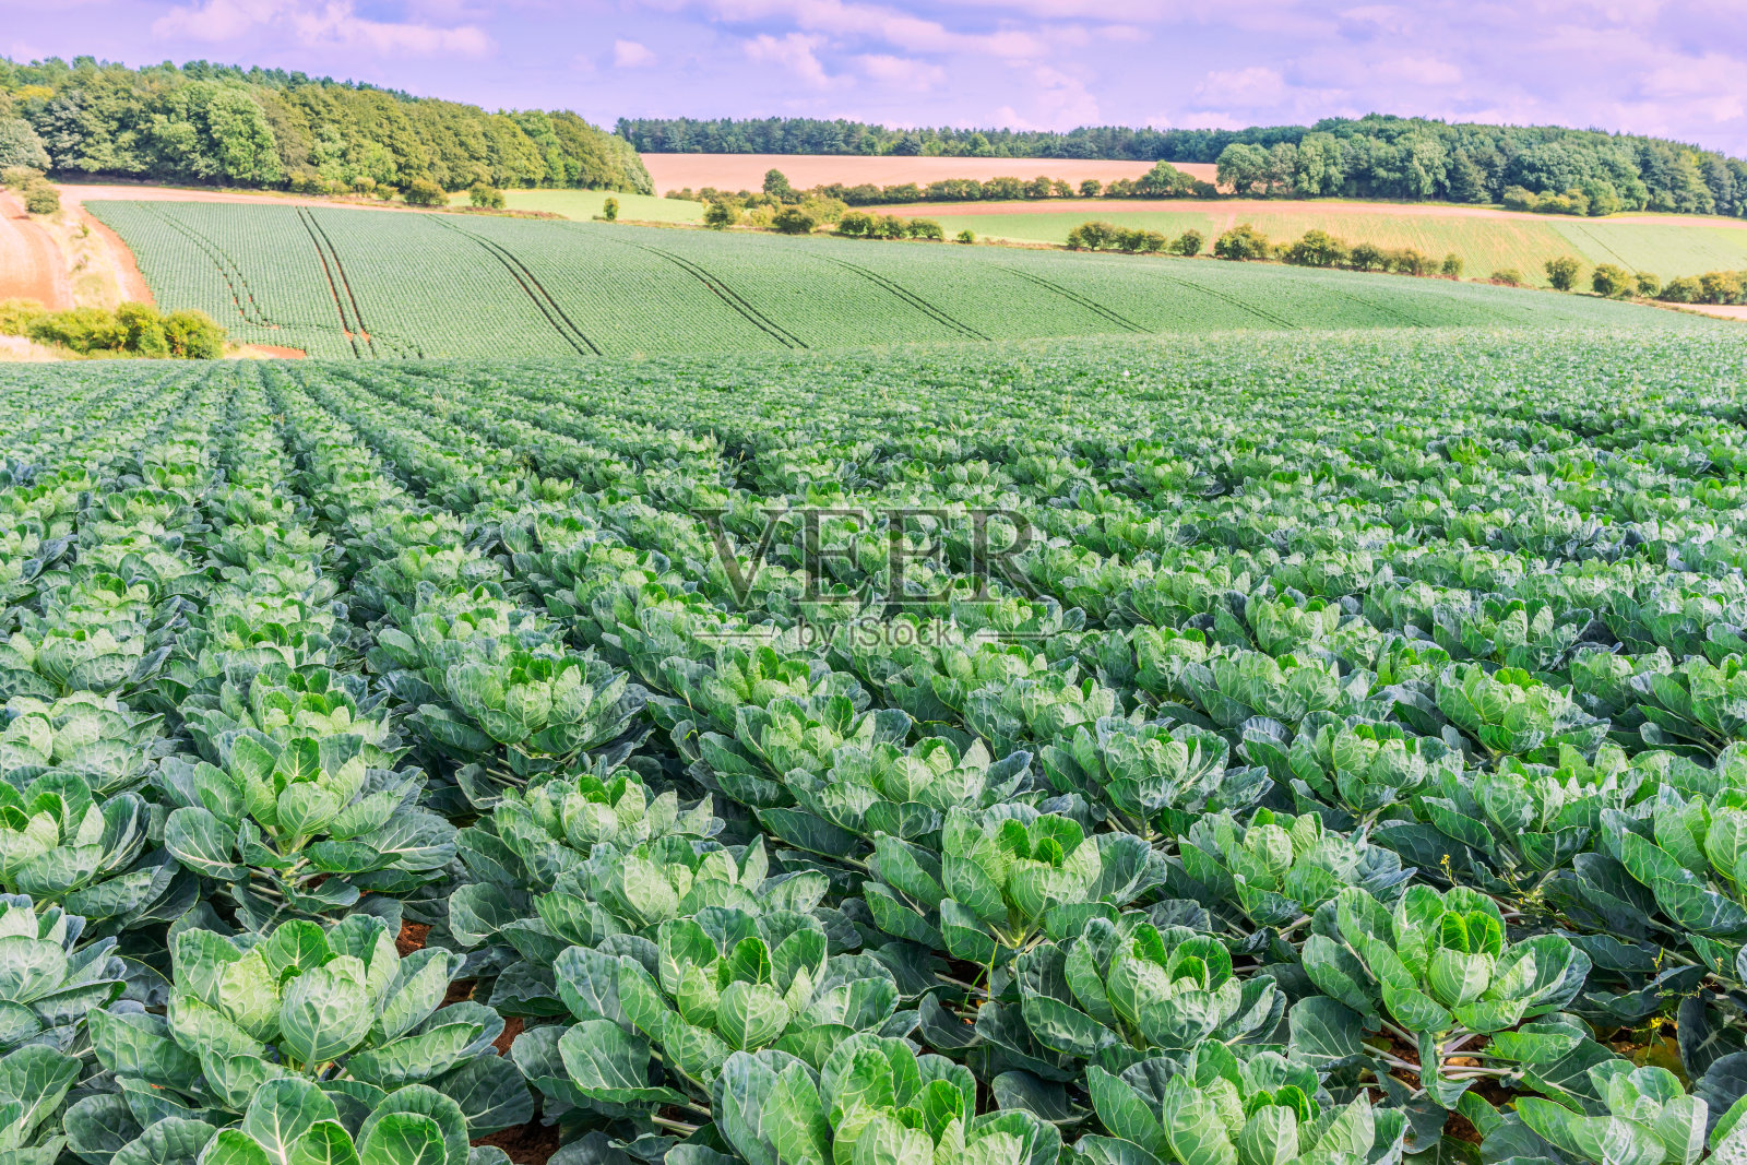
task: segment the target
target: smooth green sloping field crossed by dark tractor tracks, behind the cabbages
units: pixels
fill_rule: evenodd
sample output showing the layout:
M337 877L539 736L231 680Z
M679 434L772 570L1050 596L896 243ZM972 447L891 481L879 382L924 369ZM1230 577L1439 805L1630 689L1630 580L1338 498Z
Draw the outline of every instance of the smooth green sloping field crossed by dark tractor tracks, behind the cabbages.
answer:
M1212 260L825 236L89 203L159 304L313 356L818 349L1092 334L1716 327L1588 297Z

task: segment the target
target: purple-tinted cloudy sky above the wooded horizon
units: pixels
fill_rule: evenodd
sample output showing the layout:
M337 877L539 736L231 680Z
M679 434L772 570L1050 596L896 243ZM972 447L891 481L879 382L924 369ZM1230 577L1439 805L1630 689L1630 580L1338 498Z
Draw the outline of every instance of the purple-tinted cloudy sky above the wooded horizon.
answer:
M278 65L606 124L1164 128L1377 110L1747 155L1742 0L0 0L0 54Z

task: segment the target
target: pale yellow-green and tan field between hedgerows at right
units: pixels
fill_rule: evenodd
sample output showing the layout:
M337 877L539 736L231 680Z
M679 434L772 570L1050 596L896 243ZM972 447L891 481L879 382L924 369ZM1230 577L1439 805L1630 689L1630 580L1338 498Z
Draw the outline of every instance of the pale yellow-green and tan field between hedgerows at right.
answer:
M1034 206L1034 204L1032 204ZM1349 243L1375 243L1385 248L1412 246L1427 255L1455 252L1467 264L1467 274L1487 276L1515 267L1534 285L1546 285L1543 265L1558 255L1576 255L1586 264L1623 264L1630 271L1649 271L1663 279L1703 274L1705 271L1740 271L1747 267L1747 229L1712 225L1721 220L1667 218L1660 222L1611 222L1607 218L1481 218L1473 215L1438 215L1426 208L1398 208L1394 213L1352 208L1319 208L1314 203L1282 203L1279 208L1221 211L1123 211L1111 203L1104 211L1019 211L1012 215L936 213L935 206L912 206L903 213L936 218L947 234L963 229L978 236L1022 243L1064 243L1067 232L1088 218L1122 227L1144 227L1164 234L1200 231L1212 238L1237 222L1253 224L1270 239L1296 239L1305 231L1328 231ZM1406 211L1406 213L1405 213Z

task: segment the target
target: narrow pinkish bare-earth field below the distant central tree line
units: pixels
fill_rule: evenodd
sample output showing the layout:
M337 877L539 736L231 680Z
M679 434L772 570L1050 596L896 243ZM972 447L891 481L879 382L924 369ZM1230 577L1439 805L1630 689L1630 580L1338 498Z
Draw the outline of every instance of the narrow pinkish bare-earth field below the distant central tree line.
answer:
M1102 162L1064 157L861 157L854 154L645 154L643 164L655 180L655 192L690 187L756 190L767 169L781 169L797 189L842 182L846 187L872 182L880 187L914 182L928 185L943 178L1036 178L1048 175L1073 185L1087 178L1111 182L1139 178L1151 162ZM1211 164L1172 162L1177 169L1212 182Z

